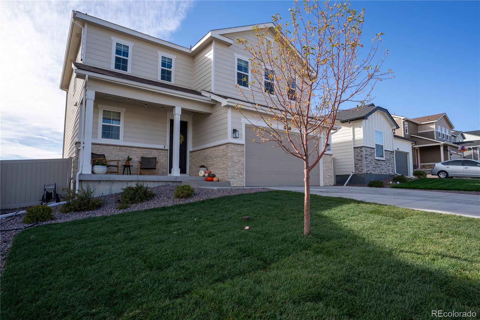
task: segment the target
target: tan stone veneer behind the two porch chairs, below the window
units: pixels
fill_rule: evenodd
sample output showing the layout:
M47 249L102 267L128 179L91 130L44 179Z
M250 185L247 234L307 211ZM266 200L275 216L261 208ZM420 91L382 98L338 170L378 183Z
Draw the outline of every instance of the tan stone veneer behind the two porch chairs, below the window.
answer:
M73 157L73 161L72 161L73 180L76 179L76 174L78 170L79 145L80 145L80 142L77 142L75 144L77 152L75 154L75 157ZM157 175L167 175L167 164L168 164L167 149L114 146L114 145L108 145L108 144L92 143L92 152L105 154L105 157L107 157L107 160L117 160L117 159L120 160L119 174L122 174L123 172L122 164L125 164L125 160L127 160L127 156L130 156L130 158L132 158L132 161L130 161L130 164L132 165L132 167L130 168L132 170L132 175L138 174L138 161L140 161L141 157L156 157L156 160L158 161ZM108 162L108 164L116 164L116 162ZM114 168L108 168L108 172L113 171L113 169ZM142 173L155 174L155 171L145 170ZM126 170L125 170L125 174L127 174Z

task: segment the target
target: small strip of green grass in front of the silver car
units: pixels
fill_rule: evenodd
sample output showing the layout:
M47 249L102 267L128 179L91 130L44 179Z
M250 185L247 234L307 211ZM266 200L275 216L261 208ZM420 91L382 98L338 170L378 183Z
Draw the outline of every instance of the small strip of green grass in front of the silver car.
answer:
M420 178L400 185L392 185L392 188L480 191L480 179Z

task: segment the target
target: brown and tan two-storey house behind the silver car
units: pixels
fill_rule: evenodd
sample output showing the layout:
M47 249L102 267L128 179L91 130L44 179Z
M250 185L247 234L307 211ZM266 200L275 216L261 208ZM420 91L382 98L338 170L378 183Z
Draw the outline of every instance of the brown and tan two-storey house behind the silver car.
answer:
M414 168L427 171L436 162L461 158L458 146L453 143L458 135L452 133L454 125L446 113L411 119L392 116L399 126L396 135L416 141L412 151Z

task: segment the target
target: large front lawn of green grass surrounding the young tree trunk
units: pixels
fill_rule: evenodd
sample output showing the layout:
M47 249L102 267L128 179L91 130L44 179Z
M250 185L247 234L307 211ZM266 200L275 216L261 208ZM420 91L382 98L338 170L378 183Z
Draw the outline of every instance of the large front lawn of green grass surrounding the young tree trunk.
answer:
M27 229L1 275L2 320L480 313L480 219L312 195L302 236L302 209L302 194L272 191Z

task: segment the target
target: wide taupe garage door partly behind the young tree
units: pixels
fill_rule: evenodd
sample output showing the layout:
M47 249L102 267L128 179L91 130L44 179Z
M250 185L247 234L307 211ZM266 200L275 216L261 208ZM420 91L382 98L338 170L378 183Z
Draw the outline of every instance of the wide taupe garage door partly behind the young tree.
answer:
M251 128L245 131L245 185L303 185L302 160L285 153L276 142L258 143ZM310 172L311 185L320 185L319 168L320 162Z

